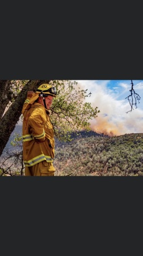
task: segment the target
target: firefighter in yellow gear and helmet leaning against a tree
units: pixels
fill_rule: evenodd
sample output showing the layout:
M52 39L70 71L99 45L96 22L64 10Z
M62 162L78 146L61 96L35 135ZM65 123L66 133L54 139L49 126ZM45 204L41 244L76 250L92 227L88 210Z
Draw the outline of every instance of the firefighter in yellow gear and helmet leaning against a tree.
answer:
M22 109L25 176L54 176L54 131L49 112L54 97L56 87L49 84L27 93Z

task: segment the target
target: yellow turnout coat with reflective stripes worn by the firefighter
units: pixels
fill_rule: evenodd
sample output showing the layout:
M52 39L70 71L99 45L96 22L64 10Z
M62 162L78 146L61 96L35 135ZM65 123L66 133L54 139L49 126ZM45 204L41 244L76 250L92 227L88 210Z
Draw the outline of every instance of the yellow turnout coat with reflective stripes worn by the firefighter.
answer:
M31 167L41 161L53 162L54 132L49 112L27 97L23 109L23 162Z

